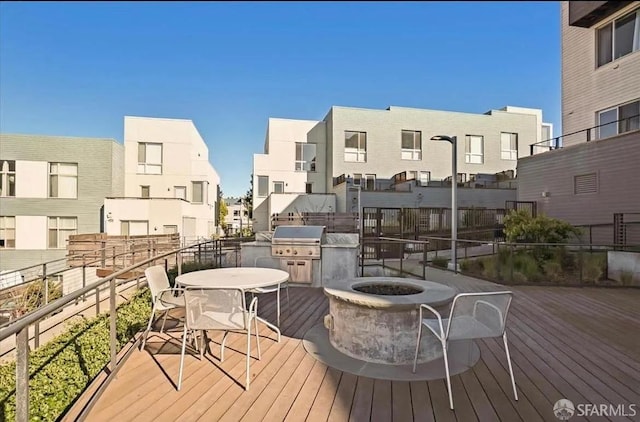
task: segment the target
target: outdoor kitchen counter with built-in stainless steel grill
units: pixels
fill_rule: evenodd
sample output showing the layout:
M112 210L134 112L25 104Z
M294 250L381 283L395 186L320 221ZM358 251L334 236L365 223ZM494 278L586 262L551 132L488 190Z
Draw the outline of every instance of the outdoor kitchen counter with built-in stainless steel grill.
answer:
M241 265L280 268L292 284L330 286L356 277L357 233L327 233L325 226L282 225L242 244Z

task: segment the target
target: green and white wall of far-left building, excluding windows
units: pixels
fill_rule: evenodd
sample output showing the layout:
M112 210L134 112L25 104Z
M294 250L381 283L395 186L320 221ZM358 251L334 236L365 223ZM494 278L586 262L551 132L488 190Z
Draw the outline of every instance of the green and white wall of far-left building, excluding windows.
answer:
M63 258L48 248L48 217L77 218L77 233L101 230L106 196L121 196L123 146L113 139L0 134L0 161L16 162L15 197L3 196L0 215L16 217L15 248L0 249L0 269ZM77 163L77 197L49 198L51 162Z

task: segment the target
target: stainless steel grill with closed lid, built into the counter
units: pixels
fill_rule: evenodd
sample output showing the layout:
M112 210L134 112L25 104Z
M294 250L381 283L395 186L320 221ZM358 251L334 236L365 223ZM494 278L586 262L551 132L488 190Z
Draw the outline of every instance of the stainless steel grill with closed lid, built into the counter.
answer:
M325 226L276 227L271 238L271 256L280 258L280 267L289 273L291 282L313 283L314 274L319 273L325 233Z

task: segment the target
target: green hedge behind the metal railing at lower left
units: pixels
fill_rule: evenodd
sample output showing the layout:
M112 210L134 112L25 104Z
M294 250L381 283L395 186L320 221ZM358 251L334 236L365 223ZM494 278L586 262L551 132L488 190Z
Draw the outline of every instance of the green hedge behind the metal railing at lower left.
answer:
M117 308L120 350L144 329L151 313L151 293L144 288ZM68 330L30 353L29 419L58 419L109 363L109 316L75 321ZM0 421L15 420L16 364L0 366Z

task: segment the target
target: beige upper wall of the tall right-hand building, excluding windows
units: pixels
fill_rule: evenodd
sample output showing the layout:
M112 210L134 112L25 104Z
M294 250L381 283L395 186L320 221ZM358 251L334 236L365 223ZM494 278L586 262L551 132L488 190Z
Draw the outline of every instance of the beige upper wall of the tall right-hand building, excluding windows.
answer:
M580 3L580 2L574 2ZM611 3L611 2L609 2ZM569 2L562 19L562 131L573 133L598 125L598 112L640 99L640 51L598 67L597 28L640 7L632 2L591 28L569 26ZM564 146L586 142L586 133L563 136Z

